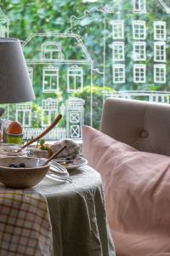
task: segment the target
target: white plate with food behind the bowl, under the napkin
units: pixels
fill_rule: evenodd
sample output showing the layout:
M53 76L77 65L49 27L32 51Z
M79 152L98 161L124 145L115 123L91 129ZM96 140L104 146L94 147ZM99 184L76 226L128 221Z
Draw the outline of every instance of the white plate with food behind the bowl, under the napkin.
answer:
M74 160L65 160L65 159L56 159L53 160L53 162L57 162L59 163L61 166L64 166L67 170L71 170L71 169L75 169L81 166L86 166L88 165L88 160L86 160L83 157L78 156L76 159Z

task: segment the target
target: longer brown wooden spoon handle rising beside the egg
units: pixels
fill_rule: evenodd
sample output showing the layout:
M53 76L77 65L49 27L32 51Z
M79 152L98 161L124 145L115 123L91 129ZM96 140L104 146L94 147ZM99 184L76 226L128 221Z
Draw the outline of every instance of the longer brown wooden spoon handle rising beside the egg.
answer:
M59 120L62 118L62 115L59 113L57 115L57 117L54 119L54 122L48 126L48 128L46 128L44 131L42 131L42 133L40 135L38 135L37 137L35 137L34 139L32 139L30 142L26 143L25 145L23 145L20 149L15 150L15 154L18 154L22 149L26 148L27 146L31 145L32 143L37 142L37 140L39 140L41 137L45 136L49 131L51 131L55 125L57 125L59 123Z

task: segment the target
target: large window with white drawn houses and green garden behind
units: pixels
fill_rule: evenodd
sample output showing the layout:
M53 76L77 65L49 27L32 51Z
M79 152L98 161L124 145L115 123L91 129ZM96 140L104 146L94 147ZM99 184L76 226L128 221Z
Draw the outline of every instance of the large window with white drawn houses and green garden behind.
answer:
M35 102L5 105L25 138L82 138L99 128L109 96L169 103L170 5L167 0L4 0L0 36L19 38Z

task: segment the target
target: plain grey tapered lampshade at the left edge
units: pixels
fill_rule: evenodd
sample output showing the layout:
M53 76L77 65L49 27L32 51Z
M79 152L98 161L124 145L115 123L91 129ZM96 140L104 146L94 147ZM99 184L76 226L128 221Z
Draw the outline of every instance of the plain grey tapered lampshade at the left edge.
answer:
M0 38L0 103L31 102L34 99L20 40Z

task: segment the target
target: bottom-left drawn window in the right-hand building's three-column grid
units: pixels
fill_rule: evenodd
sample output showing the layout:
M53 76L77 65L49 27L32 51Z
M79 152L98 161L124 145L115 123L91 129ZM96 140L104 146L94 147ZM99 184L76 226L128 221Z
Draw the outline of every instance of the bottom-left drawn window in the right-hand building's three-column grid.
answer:
M125 65L124 64L113 65L113 83L114 84L125 83Z

